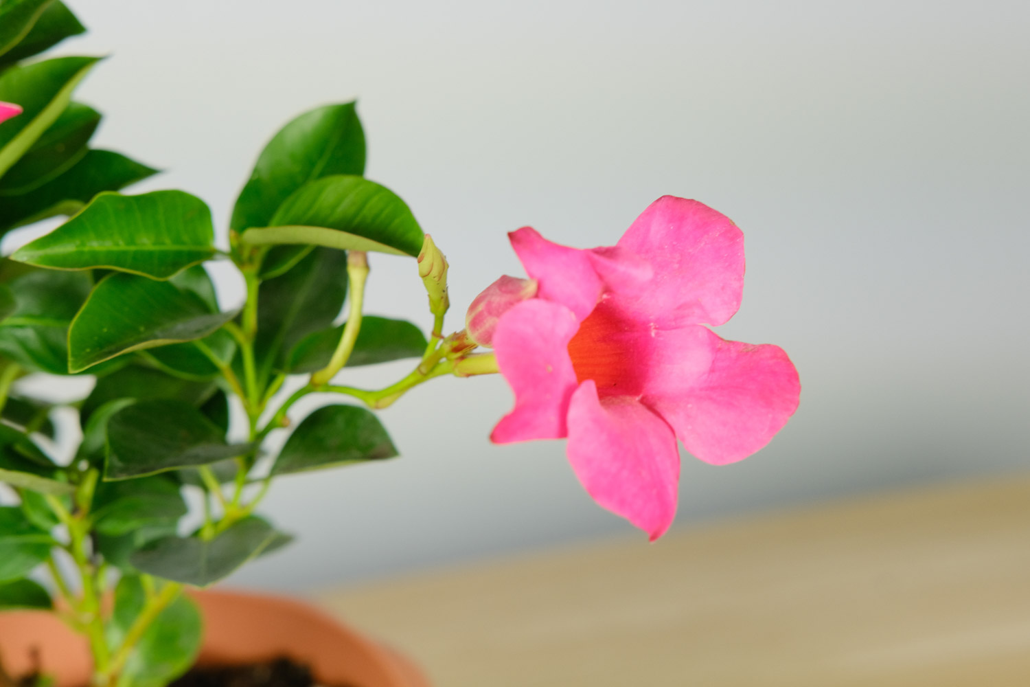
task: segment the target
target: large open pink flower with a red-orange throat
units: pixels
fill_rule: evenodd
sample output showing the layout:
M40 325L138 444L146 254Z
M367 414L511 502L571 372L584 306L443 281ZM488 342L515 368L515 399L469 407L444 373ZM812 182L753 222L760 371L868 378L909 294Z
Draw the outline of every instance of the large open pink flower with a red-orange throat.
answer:
M676 514L677 440L706 462L733 462L797 408L783 349L702 325L740 307L744 236L712 208L665 196L615 246L570 248L528 227L509 237L537 293L497 300L490 340L515 408L490 438L568 437L590 495L653 541ZM499 284L477 302L505 293Z

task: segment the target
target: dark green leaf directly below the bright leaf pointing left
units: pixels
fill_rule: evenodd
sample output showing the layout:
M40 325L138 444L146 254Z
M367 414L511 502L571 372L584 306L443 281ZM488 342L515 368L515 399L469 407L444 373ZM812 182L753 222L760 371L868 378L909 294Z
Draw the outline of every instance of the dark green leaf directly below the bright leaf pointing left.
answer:
M81 372L134 350L203 339L236 313L212 313L167 281L112 274L94 287L68 330L68 369Z

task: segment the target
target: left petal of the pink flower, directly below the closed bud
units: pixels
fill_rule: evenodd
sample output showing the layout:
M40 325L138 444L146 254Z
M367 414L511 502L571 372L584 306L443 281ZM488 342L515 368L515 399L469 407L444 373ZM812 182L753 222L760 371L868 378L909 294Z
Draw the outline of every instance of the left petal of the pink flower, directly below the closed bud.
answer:
M569 341L579 324L569 308L535 299L509 310L493 333L501 374L515 408L493 427L490 441L507 444L568 435L565 414L576 390Z

